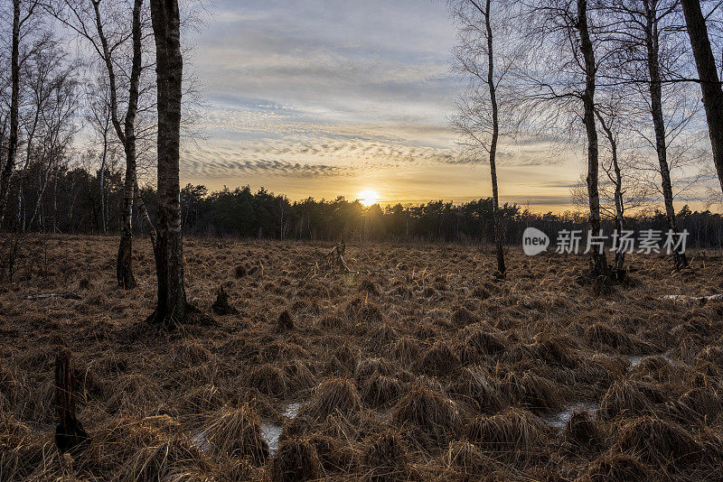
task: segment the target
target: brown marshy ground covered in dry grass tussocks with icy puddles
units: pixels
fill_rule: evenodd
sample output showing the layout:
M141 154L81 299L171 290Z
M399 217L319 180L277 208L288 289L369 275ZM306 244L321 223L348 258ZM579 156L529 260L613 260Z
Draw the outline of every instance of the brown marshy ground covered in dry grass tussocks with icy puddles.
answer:
M117 240L33 237L0 288L0 480L719 480L721 254L587 257L479 246L187 239L188 298L217 326L159 332L155 266L117 288ZM33 295L73 292L80 299ZM59 455L69 348L91 442Z

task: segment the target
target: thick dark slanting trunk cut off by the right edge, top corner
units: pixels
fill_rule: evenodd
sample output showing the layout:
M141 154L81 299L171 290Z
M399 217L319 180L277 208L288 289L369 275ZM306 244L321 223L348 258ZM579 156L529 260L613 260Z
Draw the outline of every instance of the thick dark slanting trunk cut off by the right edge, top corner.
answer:
M720 189L723 191L723 90L718 79L716 59L710 48L706 21L700 10L700 0L681 0L681 5L688 26L690 46L698 67L710 145L713 148L713 162L716 164Z

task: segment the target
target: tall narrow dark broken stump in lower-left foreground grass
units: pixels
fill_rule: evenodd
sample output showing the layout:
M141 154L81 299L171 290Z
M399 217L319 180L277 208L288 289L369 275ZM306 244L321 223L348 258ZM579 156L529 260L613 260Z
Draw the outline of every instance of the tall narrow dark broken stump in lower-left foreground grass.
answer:
M70 351L64 349L55 357L55 412L58 426L55 428L55 444L58 451L66 453L80 450L90 441L88 432L75 414L75 373L70 362Z

